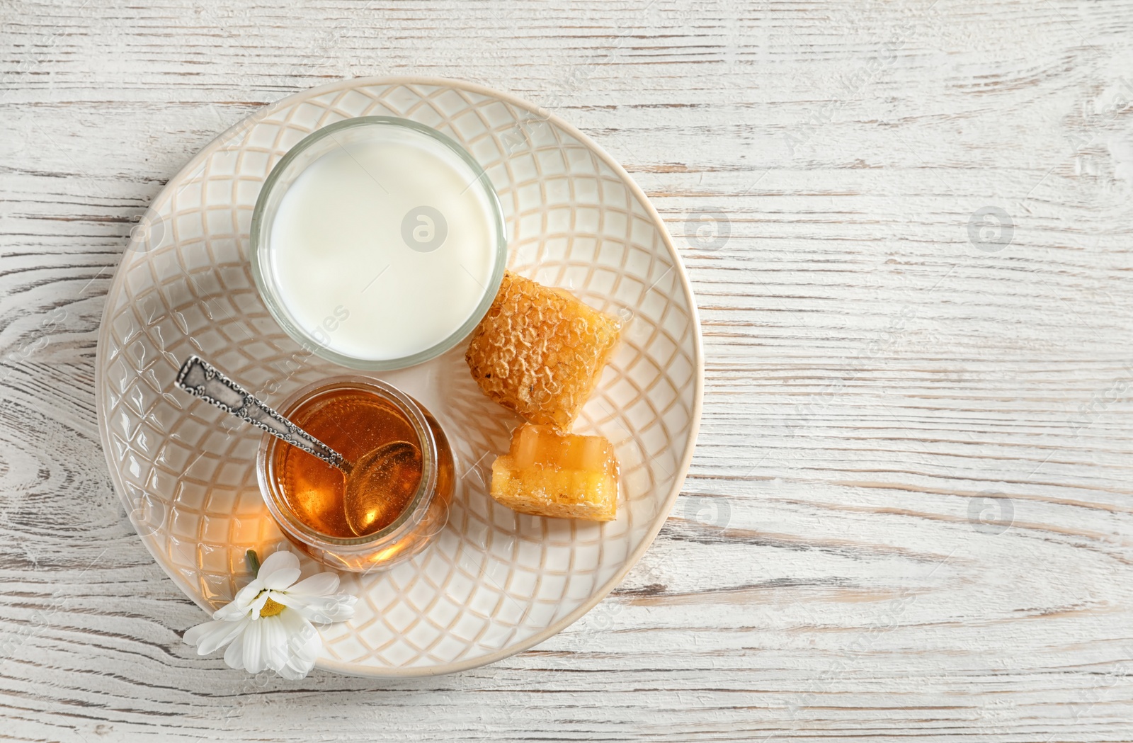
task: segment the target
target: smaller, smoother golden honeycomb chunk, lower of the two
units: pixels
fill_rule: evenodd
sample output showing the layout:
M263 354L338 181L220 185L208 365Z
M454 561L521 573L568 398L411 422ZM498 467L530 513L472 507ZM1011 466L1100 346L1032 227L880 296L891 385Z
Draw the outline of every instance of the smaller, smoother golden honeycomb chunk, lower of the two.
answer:
M512 434L511 451L492 463L492 497L521 513L613 521L614 449L603 436L564 436L526 424Z

